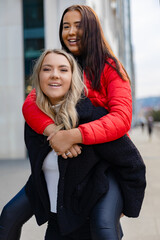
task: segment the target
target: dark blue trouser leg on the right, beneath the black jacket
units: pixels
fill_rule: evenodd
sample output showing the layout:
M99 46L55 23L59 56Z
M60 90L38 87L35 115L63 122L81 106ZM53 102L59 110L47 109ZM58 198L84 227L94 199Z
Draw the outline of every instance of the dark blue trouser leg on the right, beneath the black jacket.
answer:
M90 216L92 240L119 240L123 233L120 215L123 211L123 198L114 175L108 173L109 190L98 201Z

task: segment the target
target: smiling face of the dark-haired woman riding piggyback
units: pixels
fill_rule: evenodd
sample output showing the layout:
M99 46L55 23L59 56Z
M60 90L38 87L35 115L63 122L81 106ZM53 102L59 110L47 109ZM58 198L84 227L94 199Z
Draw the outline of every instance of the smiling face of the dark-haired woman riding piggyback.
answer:
M63 17L62 39L68 50L75 56L80 55L81 37L80 28L81 13L78 10L69 11Z

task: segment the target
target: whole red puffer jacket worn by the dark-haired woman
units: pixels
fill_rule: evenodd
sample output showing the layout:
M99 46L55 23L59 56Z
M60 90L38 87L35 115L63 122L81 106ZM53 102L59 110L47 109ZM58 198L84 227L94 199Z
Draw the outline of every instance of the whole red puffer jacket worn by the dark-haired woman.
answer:
M101 75L99 91L91 88L85 74L84 79L88 88L88 97L92 103L95 106L105 107L109 114L78 127L82 134L83 144L110 142L125 135L131 127L132 120L132 96L129 81L121 79L108 64L105 65ZM35 100L36 92L32 90L24 102L22 111L28 125L37 133L42 134L53 121L41 112Z

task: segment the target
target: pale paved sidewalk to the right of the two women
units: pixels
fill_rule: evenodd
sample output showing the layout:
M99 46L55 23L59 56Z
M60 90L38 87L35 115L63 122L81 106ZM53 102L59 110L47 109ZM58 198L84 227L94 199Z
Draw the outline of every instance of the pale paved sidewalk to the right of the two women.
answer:
M136 128L130 133L138 147L147 168L147 188L141 214L137 219L124 217L122 227L123 240L159 240L160 239L160 133L154 129L149 139L147 129L144 132Z

